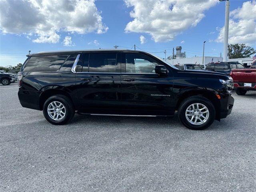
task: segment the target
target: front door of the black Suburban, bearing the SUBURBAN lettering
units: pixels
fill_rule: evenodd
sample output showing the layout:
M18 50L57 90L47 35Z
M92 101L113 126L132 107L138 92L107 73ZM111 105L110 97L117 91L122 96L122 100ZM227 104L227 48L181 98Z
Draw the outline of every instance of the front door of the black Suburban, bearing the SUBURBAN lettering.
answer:
M122 53L122 106L126 114L170 115L173 77L155 73L158 62L142 53Z

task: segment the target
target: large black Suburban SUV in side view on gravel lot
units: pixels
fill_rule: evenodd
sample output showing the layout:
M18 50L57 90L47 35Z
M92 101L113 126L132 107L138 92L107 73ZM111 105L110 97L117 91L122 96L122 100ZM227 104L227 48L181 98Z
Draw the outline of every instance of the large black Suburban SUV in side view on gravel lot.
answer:
M173 116L202 130L230 114L230 76L179 70L161 58L132 50L81 50L27 55L18 73L23 107L43 110L65 124L74 113Z

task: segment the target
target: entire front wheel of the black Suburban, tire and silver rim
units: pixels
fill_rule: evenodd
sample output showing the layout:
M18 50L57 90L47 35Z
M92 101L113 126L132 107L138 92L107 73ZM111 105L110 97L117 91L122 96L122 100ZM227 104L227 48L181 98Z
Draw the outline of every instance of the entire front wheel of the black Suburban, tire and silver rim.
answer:
M215 116L216 110L214 105L210 100L202 96L186 98L182 101L178 109L180 122L192 130L204 130L208 128L214 122Z

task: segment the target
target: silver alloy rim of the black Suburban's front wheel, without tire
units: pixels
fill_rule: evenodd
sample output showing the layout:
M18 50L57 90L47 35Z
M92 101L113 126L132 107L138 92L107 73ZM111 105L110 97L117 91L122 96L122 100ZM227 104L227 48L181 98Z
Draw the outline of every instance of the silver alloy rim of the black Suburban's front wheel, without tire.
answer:
M186 119L193 125L202 125L209 118L208 108L201 103L193 103L186 109Z

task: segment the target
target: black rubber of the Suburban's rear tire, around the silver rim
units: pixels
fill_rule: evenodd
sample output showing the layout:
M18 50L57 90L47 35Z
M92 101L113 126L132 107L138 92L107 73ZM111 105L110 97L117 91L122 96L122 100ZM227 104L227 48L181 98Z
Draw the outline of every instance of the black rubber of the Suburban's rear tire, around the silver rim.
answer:
M64 117L61 120L54 120L48 114L48 109L47 108L48 108L49 104L54 102L54 101L60 102L66 109L65 110L66 114L64 115ZM50 122L51 124L63 125L63 124L66 124L68 121L70 121L74 117L75 109L74 109L74 106L72 104L72 101L67 96L65 96L65 95L54 95L54 96L49 97L44 102L43 113L44 113L44 117L46 118L46 120L48 122Z

